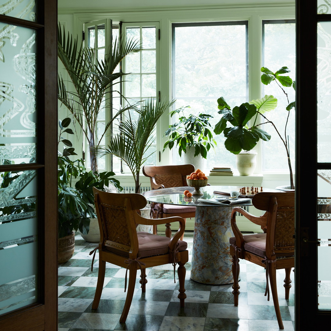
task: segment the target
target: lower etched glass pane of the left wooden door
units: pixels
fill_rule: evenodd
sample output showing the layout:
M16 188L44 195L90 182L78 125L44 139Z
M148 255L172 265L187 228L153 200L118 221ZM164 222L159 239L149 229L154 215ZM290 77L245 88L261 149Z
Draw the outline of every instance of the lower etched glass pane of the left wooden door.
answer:
M0 173L0 314L37 301L36 170ZM15 261L15 263L13 263Z

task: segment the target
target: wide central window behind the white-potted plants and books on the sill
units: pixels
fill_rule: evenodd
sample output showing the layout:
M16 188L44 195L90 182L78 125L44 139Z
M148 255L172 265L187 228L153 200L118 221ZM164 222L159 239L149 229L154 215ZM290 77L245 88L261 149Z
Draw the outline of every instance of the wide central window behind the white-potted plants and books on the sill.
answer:
M248 23L197 23L172 25L172 97L174 109L190 106L187 113L221 118L217 99L231 106L248 101ZM176 121L176 119L173 119ZM207 155L208 167L235 167L235 156L224 147L224 137L214 136L215 152ZM180 163L178 152L173 158Z

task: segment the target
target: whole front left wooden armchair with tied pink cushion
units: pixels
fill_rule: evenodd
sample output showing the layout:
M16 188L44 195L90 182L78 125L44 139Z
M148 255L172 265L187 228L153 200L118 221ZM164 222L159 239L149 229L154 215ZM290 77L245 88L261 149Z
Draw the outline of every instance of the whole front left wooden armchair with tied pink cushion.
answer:
M92 309L97 309L102 293L106 262L116 264L129 270L129 282L122 315L119 319L124 323L129 312L137 270L141 271L141 288L145 292L145 269L157 265L179 264L177 273L179 279L180 307L184 307L185 294L185 263L188 261L187 243L180 241L184 233L185 222L181 217L150 219L140 216L136 210L146 206L146 199L141 194L118 194L99 191L93 188L96 212L100 227L100 243L90 254L99 249L99 273L97 288ZM164 222L179 222L179 229L172 238L161 237L147 232L137 232L136 224L156 225ZM93 262L92 262L93 264ZM126 291L126 276L125 288Z

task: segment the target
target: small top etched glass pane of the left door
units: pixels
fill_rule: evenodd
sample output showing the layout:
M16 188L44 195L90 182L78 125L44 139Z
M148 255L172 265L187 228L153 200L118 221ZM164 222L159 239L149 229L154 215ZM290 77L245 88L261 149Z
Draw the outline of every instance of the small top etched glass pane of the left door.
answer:
M34 0L0 0L0 14L27 21L36 21ZM1 32L0 32L1 33Z

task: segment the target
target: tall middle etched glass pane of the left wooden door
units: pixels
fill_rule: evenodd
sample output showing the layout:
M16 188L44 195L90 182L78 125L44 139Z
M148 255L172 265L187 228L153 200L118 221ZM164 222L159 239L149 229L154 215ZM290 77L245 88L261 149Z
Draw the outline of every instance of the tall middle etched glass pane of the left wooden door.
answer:
M0 163L36 162L35 31L0 31Z

